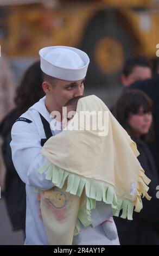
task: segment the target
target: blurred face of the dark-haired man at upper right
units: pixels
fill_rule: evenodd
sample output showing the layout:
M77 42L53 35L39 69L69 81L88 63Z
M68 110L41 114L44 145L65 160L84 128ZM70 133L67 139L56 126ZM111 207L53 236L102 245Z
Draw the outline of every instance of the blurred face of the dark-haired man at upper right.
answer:
M132 83L137 81L146 80L152 77L152 71L150 68L145 66L136 66L132 69L130 75L122 75L122 84L124 87L130 86Z

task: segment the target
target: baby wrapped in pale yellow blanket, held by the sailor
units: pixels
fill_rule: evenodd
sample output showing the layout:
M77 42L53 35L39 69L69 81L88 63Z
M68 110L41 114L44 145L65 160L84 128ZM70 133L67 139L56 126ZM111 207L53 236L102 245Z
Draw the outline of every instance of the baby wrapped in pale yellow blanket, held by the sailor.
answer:
M62 132L41 149L48 162L39 172L54 184L41 192L48 242L72 245L77 236L78 245L80 239L86 245L110 244L118 239L112 215L122 210L120 217L132 220L134 206L142 209L142 195L150 200L150 180L137 160L135 142L103 101L79 96L65 107Z

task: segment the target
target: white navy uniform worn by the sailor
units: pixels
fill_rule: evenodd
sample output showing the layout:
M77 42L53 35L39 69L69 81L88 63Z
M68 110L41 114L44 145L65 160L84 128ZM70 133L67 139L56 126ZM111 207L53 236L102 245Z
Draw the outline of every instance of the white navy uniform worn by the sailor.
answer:
M49 190L53 187L52 181L45 179L46 173L40 174L38 169L47 161L41 155L41 139L46 138L40 114L50 123L54 121L44 104L45 97L35 103L27 112L21 115L23 118L31 120L16 121L12 126L10 143L12 151L12 161L15 169L23 182L26 183L27 212L26 212L26 241L25 245L47 245L47 236L44 225L39 217L40 202L37 201L37 194L33 192L34 187L40 190ZM40 113L40 114L39 114ZM56 135L60 131L52 131ZM107 216L108 215L108 216ZM77 237L77 245L119 245L116 240L107 239L100 223L107 220L111 212L104 211L99 204L92 212L93 227L81 228ZM115 225L115 223L114 223Z

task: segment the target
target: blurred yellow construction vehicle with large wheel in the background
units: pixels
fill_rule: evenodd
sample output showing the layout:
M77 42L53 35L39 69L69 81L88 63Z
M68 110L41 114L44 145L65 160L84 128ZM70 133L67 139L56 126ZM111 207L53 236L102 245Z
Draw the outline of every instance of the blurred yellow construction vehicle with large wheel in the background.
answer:
M1 48L11 57L37 57L49 45L79 47L90 56L92 86L117 83L132 54L156 58L158 0L59 0L53 8L35 2L0 9Z

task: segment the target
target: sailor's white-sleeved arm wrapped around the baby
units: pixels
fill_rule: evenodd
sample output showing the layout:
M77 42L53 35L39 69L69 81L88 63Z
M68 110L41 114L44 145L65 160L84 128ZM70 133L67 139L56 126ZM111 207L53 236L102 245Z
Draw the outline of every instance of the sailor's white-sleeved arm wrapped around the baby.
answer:
M11 138L12 161L22 181L40 190L52 188L52 181L45 179L46 173L38 172L47 159L40 153L41 138L34 122L16 121Z

